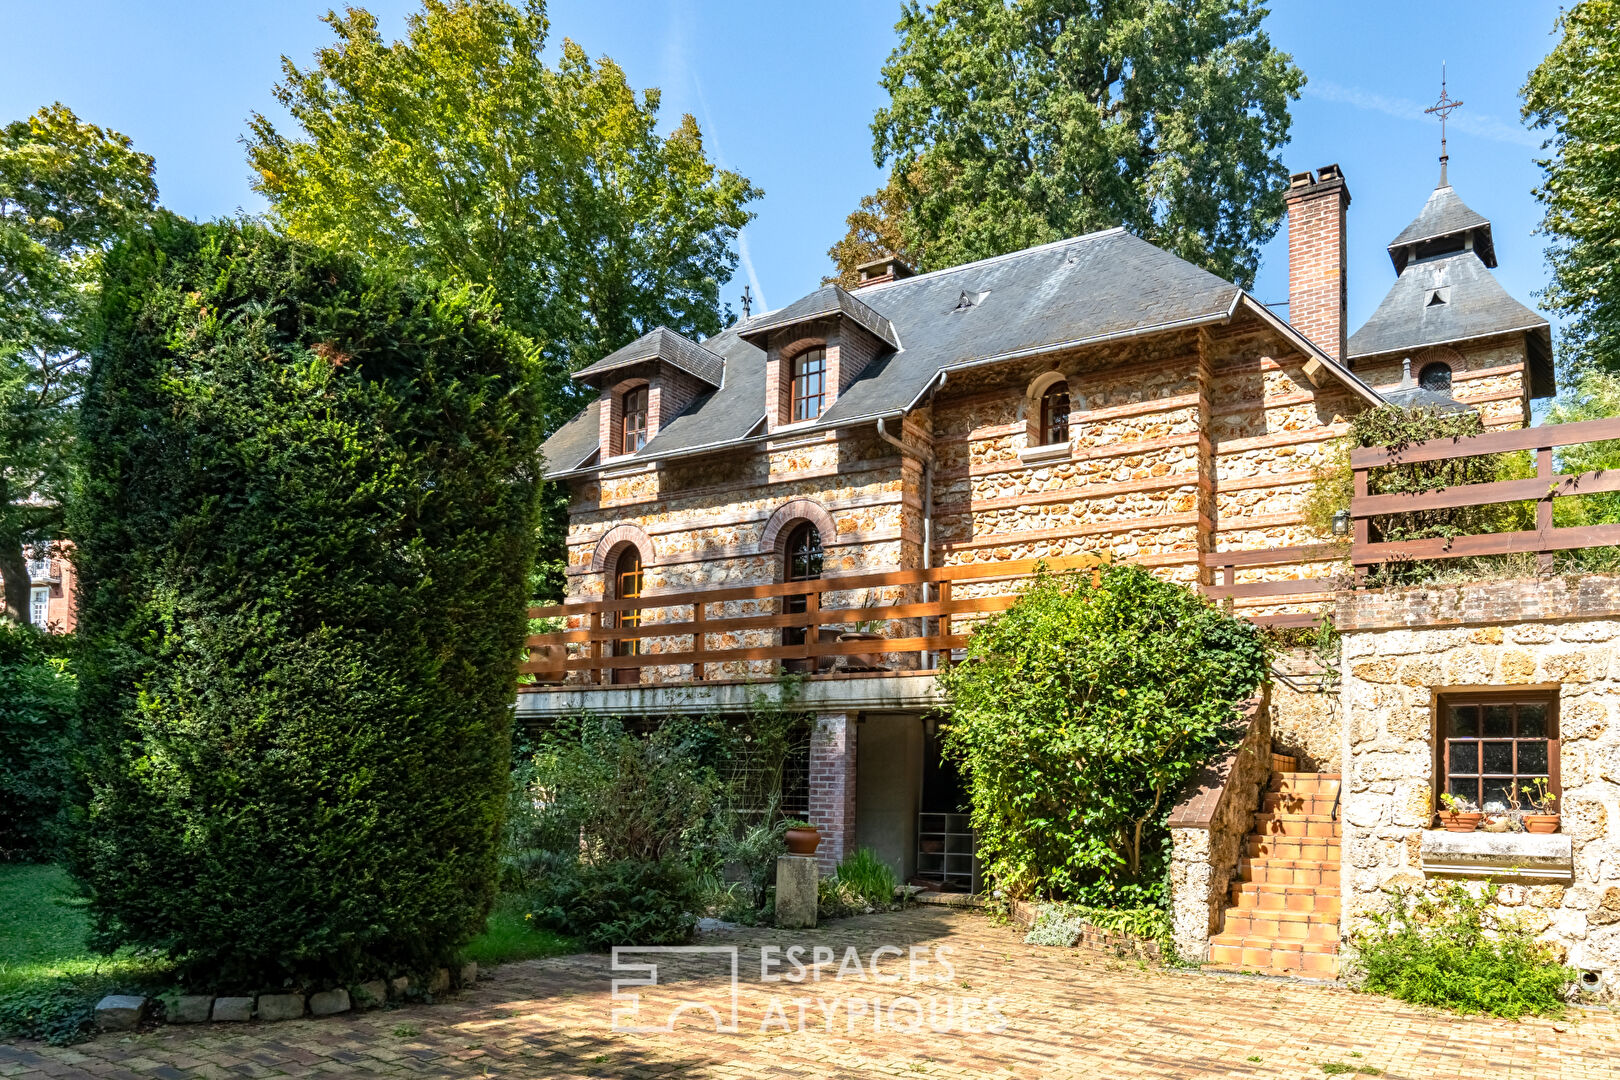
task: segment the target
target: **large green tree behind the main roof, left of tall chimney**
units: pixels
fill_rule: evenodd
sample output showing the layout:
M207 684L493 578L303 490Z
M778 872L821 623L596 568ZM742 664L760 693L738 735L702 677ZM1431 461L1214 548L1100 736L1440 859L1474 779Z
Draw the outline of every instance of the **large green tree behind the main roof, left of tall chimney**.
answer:
M1256 0L909 0L872 121L909 249L956 266L1124 225L1244 287L1304 74Z

